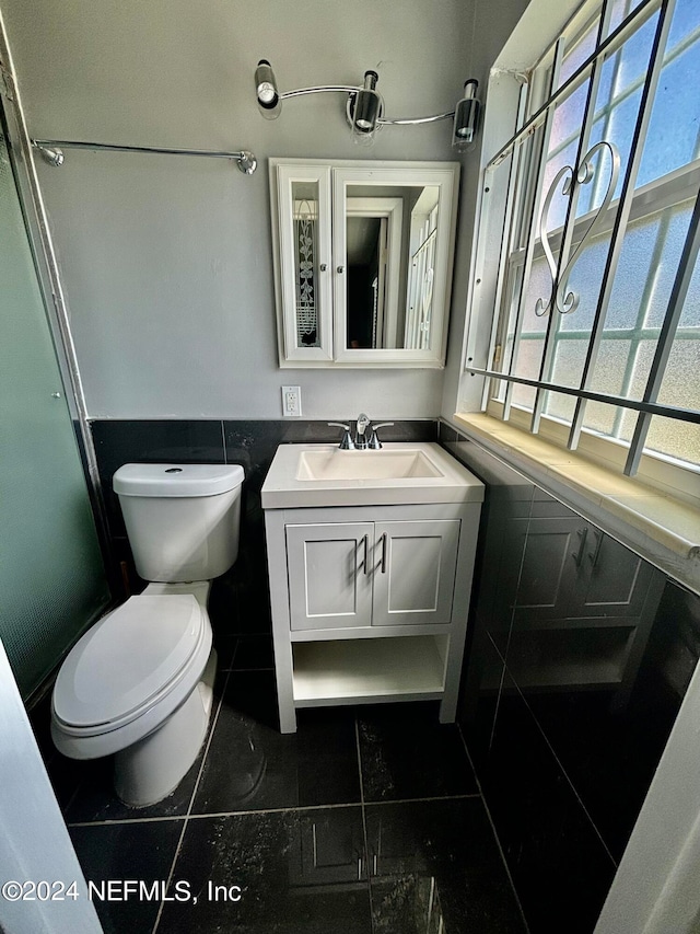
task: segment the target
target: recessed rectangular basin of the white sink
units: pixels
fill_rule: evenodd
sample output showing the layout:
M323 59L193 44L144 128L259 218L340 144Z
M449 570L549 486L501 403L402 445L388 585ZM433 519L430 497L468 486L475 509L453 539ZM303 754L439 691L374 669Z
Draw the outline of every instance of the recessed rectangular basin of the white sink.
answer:
M296 480L400 480L408 476L444 476L420 450L302 451Z

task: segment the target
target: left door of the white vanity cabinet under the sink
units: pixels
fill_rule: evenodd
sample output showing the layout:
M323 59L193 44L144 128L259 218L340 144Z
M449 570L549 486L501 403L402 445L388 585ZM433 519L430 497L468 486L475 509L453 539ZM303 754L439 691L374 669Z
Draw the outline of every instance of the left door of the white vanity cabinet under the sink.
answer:
M287 527L292 630L372 622L372 522Z

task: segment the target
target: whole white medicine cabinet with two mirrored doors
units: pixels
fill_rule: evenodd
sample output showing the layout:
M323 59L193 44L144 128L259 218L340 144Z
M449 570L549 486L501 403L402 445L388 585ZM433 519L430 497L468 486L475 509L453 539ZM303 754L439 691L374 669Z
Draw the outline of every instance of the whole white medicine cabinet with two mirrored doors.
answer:
M458 163L270 159L281 367L443 367Z

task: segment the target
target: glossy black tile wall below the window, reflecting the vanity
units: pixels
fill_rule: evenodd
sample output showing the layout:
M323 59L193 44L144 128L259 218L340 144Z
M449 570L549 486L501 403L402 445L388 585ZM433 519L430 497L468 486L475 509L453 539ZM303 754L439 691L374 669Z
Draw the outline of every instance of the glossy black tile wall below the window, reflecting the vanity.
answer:
M487 487L463 731L530 934L592 934L700 657L700 599L451 426L440 440Z

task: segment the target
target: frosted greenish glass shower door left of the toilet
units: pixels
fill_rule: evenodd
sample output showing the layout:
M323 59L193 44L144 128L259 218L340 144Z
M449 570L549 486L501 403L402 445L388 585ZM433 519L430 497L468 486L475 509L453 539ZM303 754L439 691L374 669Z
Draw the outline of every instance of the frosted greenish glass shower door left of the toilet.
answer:
M73 424L0 137L0 638L24 699L108 600Z

